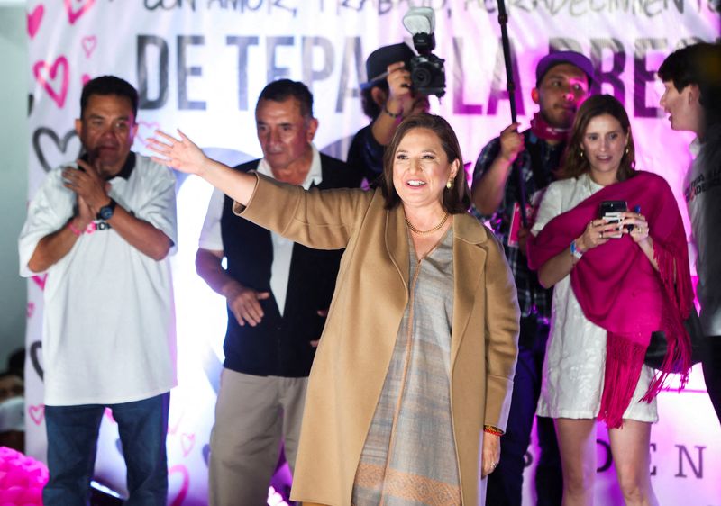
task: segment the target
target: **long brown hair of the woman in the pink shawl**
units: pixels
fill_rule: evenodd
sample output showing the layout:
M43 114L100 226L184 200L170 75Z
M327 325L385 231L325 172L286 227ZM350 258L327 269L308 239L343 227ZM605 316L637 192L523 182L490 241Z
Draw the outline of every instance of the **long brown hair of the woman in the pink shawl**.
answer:
M559 179L570 179L586 174L590 170L589 159L583 155L583 136L589 128L589 122L598 116L609 114L621 123L621 129L628 135L626 149L621 163L618 166L616 178L625 181L634 176L635 172L635 148L634 136L631 134L631 122L628 121L628 114L624 106L611 95L594 95L581 104L573 128L570 131L570 139L563 154L561 169L558 172Z

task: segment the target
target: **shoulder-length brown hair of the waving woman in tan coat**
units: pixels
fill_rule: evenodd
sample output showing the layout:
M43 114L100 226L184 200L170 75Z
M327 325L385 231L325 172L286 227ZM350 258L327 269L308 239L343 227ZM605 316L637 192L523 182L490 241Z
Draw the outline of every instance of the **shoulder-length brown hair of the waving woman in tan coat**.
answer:
M418 113L409 116L398 125L393 140L386 146L383 154L383 180L380 183L380 189L386 198L386 209L392 209L400 203L400 197L393 185L393 161L396 158L396 151L400 141L406 137L406 133L423 128L433 131L441 142L443 152L448 158L448 163L458 160L458 172L453 178L452 188L443 190L443 199L441 205L443 210L451 214L461 214L468 212L470 207L470 192L466 183L466 171L463 167L463 157L461 155L461 147L458 138L453 131L451 125L441 116L428 113Z

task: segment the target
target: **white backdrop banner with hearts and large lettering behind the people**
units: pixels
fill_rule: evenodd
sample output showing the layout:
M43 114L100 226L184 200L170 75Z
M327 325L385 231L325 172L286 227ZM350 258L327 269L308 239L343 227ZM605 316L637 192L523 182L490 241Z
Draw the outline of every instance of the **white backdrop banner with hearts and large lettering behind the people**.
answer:
M368 122L358 92L365 59L381 45L410 40L401 20L411 6L434 9L434 53L445 59L447 93L432 106L454 126L466 161L474 161L510 122L495 0L29 0L30 196L51 167L77 158L73 120L81 87L105 74L140 92L135 149L141 152L155 129L179 127L228 163L260 156L256 98L269 80L289 77L315 95L316 145L345 158L351 136ZM718 38L719 0L511 0L507 10L522 128L536 109L530 92L538 59L552 49L580 50L596 67L592 91L615 95L631 116L637 167L666 177L680 197L690 138L671 132L658 108L654 72L671 50ZM172 393L168 434L173 505L206 502L223 362L224 302L196 276L193 263L209 195L204 182L178 175L173 263L180 384ZM27 326L27 448L41 459L44 282L42 276L30 281ZM662 393L659 411L651 449L662 504L721 505L721 429L700 370L684 393ZM112 417L100 438L96 474L123 491ZM527 504L533 503L536 454L531 447L527 455ZM601 426L596 495L598 504L621 503Z

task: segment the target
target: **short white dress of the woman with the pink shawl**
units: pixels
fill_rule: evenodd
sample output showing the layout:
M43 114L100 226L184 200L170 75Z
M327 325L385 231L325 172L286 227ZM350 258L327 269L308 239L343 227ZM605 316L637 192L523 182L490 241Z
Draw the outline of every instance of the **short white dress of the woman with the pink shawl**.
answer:
M531 232L538 235L546 223L602 187L585 174L578 179L552 183L543 194ZM553 286L551 332L543 362L539 416L570 419L598 416L606 369L606 336L606 330L583 314L570 286L570 276ZM655 398L651 403L639 402L652 378L653 369L643 366L624 419L658 421Z

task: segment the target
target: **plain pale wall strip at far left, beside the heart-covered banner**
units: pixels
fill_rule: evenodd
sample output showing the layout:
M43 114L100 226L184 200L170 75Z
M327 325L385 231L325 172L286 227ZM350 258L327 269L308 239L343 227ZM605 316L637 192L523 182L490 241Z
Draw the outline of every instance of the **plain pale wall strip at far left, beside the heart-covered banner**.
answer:
M0 370L25 340L27 289L17 237L28 187L28 45L23 3L0 2Z

